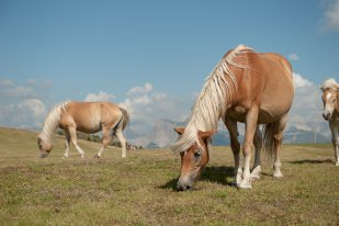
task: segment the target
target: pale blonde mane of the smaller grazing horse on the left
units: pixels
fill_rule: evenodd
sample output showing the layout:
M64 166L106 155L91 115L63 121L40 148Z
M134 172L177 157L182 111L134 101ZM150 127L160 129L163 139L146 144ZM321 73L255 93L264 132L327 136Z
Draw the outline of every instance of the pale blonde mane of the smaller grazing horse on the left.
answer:
M43 131L38 135L41 139L43 139L46 143L52 144L54 132L59 126L61 113L67 110L67 105L71 101L69 100L65 101L60 103L59 105L54 106L53 110L48 113L43 124Z

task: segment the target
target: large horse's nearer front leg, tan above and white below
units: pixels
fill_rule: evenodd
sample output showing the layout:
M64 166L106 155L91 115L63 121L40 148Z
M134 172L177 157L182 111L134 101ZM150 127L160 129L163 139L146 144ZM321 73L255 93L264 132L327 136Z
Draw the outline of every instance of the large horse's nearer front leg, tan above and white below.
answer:
M250 173L250 160L251 151L253 147L253 137L257 128L258 122L258 106L253 105L246 115L246 131L245 139L242 146L244 154L244 172L242 172L242 182L239 188L241 189L251 189L251 173Z

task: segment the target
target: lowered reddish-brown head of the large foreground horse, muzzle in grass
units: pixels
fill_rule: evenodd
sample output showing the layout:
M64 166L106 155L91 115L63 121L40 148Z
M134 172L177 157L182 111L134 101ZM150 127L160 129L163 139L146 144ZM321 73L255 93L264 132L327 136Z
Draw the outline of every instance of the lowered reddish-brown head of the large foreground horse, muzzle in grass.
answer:
M184 128L177 127L174 131L181 136L184 133ZM181 170L177 184L178 191L185 191L193 189L193 184L210 160L208 146L210 138L214 134L214 131L201 132L197 131L197 143L194 143L187 150L181 151ZM180 137L179 137L180 138Z

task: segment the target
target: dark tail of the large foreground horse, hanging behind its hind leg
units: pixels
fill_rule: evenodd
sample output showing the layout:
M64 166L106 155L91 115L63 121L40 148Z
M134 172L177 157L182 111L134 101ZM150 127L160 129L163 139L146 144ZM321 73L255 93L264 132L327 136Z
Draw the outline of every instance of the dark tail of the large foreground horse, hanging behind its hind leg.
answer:
M273 158L276 149L275 135L279 132L280 121L268 123L263 126L263 150L269 159Z

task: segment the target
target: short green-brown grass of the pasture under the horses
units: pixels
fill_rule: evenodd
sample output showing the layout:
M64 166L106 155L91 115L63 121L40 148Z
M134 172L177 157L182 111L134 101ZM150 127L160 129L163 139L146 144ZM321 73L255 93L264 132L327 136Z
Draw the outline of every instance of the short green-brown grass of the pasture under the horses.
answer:
M80 140L61 159L55 139L37 159L36 134L0 128L0 225L338 225L339 168L330 145L285 145L281 180L263 160L252 190L229 185L233 155L215 147L195 190L176 192L179 155L128 151Z

